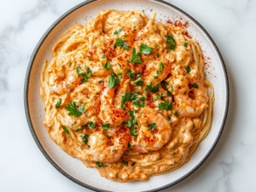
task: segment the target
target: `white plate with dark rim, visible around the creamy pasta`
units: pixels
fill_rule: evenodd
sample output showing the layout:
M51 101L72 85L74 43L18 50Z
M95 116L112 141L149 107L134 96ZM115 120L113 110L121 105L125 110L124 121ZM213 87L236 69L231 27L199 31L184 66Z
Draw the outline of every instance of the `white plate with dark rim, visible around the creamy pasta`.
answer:
M69 26L79 23L84 25L95 17L102 9L117 10L141 10L151 17L157 12L156 20L166 23L166 20L181 20L184 23L189 21L189 35L200 42L204 56L207 58L207 79L212 82L215 89L215 104L213 108L212 129L205 138L191 160L174 172L165 175L149 178L147 181L129 182L119 184L106 178L102 178L95 168L84 167L81 161L73 159L58 147L48 136L44 128L44 104L39 95L39 74L44 59L51 59L51 48ZM209 58L209 59L208 59ZM63 175L73 182L86 188L97 191L156 191L165 189L177 184L201 166L207 159L214 146L218 142L224 122L227 116L229 105L229 83L224 61L218 48L208 35L207 31L179 8L162 1L148 0L95 0L87 1L67 11L61 18L55 21L44 33L38 42L26 71L26 82L24 90L26 119L32 137L35 139L38 148L42 151L48 161Z

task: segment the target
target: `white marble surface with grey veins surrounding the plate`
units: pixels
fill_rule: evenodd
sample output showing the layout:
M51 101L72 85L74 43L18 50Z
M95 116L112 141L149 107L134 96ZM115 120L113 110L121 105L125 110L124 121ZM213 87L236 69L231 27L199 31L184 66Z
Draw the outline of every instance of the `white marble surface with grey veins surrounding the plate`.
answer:
M0 1L0 191L90 191L57 172L26 124L23 86L38 40L82 0ZM256 191L256 0L169 0L203 25L221 51L230 80L224 133L207 161L163 191Z

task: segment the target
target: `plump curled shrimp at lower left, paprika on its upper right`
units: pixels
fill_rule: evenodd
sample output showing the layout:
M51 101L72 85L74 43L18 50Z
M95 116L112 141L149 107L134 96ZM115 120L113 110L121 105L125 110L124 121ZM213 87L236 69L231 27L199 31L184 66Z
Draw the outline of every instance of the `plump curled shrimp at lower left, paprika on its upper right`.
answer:
M128 147L130 129L125 127L109 127L106 135L102 131L90 134L88 144L90 154L98 161L115 162L119 161Z

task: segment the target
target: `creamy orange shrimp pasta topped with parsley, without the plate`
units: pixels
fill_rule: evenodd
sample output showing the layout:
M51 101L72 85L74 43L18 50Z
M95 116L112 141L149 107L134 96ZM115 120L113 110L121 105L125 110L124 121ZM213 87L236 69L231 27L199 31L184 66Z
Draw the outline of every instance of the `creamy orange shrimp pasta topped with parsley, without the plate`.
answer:
M40 74L49 137L118 182L181 167L212 126L201 48L155 16L102 10L72 25Z

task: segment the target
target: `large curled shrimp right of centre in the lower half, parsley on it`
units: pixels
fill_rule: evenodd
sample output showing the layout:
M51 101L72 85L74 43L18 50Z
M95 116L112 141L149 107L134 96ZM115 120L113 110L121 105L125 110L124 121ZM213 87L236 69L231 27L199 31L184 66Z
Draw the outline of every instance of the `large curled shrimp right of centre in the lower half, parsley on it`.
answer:
M166 117L148 107L136 113L139 131L137 137L131 138L131 149L147 153L148 150L160 150L171 138L172 127ZM148 125L155 125L154 129Z

